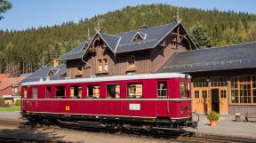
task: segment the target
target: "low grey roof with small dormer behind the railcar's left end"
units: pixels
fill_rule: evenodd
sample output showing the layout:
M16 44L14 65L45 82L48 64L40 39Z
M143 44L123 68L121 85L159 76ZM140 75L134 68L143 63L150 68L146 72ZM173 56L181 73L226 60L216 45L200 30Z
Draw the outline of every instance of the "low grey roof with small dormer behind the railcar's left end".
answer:
M55 75L48 75L50 71L54 72ZM20 83L36 82L39 81L41 78L45 80L47 76L50 77L50 79L60 79L65 74L66 65L60 65L55 68L53 68L52 66L47 66L37 69L33 74L28 75L28 77Z

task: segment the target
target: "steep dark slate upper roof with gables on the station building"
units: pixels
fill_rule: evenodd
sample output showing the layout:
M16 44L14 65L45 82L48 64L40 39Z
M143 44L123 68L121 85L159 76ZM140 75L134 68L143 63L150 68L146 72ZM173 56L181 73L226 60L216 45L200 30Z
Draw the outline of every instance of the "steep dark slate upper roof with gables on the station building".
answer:
M96 36L100 36L100 38L104 41L104 43L107 44L109 49L115 54L122 53L122 52L134 52L134 51L155 48L157 44L162 42L165 36L168 36L172 32L172 30L174 28L177 28L178 26L185 29L180 22L174 22L174 23L156 26L152 28L140 28L138 30L124 32L117 35L108 35L102 32L97 32L94 38ZM188 36L186 30L185 30L185 33ZM132 39L136 35L140 35L143 38L143 40L139 42L133 42ZM193 44L189 36L188 36L188 40ZM90 43L87 43L87 44L90 44ZM79 44L73 50L71 50L70 52L67 52L64 56L62 56L60 60L81 59L87 50L86 48L85 49L83 48L83 45L84 43ZM193 45L194 47L196 47L195 44Z

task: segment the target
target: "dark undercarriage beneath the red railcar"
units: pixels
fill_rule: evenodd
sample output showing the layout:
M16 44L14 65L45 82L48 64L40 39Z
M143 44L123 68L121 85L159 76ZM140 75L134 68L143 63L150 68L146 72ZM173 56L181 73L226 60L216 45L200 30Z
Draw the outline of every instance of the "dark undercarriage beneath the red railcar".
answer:
M192 121L192 117L170 119L168 117L142 118L104 115L69 115L69 114L43 114L21 112L24 119L30 123L56 123L59 125L69 124L87 128L108 128L116 130L180 130L182 128L197 128L199 121Z

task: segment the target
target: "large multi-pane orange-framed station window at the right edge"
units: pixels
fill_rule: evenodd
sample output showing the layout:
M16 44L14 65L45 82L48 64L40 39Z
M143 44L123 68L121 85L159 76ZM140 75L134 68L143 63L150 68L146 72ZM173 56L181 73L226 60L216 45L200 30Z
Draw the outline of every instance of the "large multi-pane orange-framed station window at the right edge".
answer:
M255 75L241 75L231 79L231 103L256 103Z

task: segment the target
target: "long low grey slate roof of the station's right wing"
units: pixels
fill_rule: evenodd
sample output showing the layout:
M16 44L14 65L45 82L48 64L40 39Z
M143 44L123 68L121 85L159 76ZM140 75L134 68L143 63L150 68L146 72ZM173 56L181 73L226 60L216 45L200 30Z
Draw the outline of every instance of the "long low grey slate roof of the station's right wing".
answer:
M256 43L176 52L158 72L192 73L256 68Z

